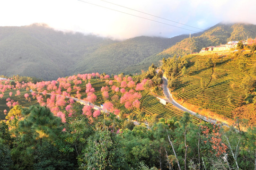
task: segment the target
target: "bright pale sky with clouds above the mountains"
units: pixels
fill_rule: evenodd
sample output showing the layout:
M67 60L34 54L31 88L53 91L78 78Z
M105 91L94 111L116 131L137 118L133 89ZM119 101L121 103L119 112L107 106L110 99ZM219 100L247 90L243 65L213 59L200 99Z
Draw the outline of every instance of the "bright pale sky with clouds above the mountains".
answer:
M220 22L256 25L255 16L256 0L0 0L0 26L45 23L120 40L193 34Z

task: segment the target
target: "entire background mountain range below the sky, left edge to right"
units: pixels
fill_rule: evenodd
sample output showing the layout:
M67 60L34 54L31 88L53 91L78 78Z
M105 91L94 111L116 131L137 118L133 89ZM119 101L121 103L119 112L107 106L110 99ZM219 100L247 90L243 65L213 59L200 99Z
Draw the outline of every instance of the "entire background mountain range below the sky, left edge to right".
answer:
M0 27L0 75L44 80L79 73L141 73L163 57L256 36L252 24L222 24L203 33L172 38L139 36L124 41L56 31L45 24Z

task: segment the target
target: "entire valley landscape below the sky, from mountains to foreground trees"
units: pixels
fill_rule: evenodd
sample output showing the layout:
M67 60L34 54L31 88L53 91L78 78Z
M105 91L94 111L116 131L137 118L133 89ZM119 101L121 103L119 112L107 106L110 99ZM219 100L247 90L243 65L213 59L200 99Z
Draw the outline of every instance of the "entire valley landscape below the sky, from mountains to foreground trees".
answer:
M0 27L0 169L254 170L255 43L191 53L255 28L117 41Z

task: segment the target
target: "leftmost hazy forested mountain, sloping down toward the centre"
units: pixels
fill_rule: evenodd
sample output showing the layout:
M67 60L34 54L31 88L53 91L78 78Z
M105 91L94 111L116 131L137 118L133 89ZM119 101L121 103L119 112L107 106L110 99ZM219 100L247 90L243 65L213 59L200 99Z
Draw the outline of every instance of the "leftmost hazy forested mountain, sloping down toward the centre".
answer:
M0 27L0 72L56 79L71 73L85 53L113 43L94 35L63 33L45 25Z

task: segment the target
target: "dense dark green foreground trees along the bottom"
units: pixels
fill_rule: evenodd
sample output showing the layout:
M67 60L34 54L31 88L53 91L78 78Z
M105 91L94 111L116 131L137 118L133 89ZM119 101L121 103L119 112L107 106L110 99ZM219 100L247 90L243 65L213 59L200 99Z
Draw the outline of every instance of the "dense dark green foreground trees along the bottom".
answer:
M90 122L78 112L76 117L62 123L44 106L19 110L22 114L0 122L3 170L253 170L255 167L255 128L238 133L233 128L203 122L195 125L185 114L179 121L159 119L151 128L141 124L129 129L124 126L127 120L117 119L114 114ZM45 119L35 114L49 121L45 124Z

